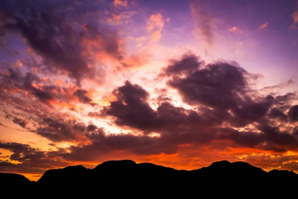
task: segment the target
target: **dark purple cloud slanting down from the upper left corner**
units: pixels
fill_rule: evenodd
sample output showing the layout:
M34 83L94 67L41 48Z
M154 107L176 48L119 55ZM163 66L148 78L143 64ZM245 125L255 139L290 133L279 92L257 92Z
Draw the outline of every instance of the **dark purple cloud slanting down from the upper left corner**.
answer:
M27 11L24 7L23 15L12 5L6 9L10 11L2 11L2 15L7 17L7 21L11 19L15 22L6 23L2 28L20 32L38 54L69 71L78 81L81 74L89 70L84 58L71 43L75 31L66 21L55 16L51 10L29 8Z

